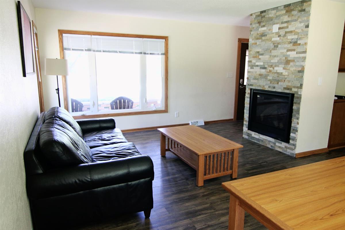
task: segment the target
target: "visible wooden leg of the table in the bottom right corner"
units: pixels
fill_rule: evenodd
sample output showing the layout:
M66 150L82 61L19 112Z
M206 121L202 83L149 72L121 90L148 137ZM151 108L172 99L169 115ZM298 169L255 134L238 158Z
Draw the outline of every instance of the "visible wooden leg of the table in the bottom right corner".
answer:
M238 203L237 198L230 194L229 230L243 230L244 228L244 209Z

